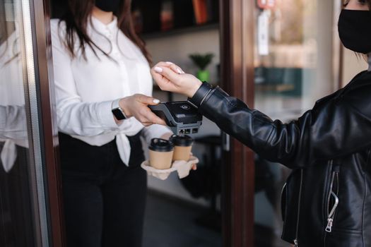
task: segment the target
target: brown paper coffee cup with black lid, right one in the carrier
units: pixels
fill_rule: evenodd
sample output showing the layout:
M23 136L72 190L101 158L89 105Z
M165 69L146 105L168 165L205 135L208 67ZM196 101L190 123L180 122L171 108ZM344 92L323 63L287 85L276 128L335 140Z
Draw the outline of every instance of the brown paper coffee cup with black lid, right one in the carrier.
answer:
M172 135L170 140L175 146L172 160L188 161L191 157L193 138L189 135Z

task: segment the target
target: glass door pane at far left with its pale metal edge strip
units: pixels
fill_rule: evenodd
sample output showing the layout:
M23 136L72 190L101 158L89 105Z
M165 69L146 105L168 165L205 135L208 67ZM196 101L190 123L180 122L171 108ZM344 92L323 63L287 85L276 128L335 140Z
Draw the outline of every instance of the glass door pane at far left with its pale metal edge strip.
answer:
M35 162L40 138L30 114L37 116L30 103L36 100L29 84L35 82L29 4L0 0L0 246L45 246L38 227L45 216Z

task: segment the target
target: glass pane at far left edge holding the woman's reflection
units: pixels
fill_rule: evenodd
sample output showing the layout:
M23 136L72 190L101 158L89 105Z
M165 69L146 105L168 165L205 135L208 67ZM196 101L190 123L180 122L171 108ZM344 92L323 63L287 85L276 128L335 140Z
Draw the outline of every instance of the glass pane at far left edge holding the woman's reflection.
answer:
M0 0L0 246L35 246L20 1Z

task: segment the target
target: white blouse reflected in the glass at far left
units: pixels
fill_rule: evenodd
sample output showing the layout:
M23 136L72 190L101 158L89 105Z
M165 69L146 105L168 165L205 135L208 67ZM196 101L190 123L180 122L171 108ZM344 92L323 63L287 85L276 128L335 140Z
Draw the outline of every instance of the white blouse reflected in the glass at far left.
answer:
M0 44L0 142L4 142L0 150L0 163L6 172L11 171L16 161L16 145L28 147L23 54L20 53L19 40L16 23L16 30Z

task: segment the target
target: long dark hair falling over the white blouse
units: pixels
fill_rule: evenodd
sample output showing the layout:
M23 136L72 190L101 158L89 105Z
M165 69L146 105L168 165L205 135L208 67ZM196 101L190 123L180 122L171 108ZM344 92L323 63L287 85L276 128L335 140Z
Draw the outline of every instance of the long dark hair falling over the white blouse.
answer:
M65 45L69 50L72 57L76 57L75 54L75 42L78 42L78 47L81 49L83 57L86 59L86 46L90 47L95 56L98 56L96 50L99 50L105 56L110 57L107 52L103 51L93 40L90 39L87 26L90 21L90 15L95 6L95 0L68 0L68 8L64 16L61 17L61 21L66 23L66 37ZM133 19L131 18L131 0L122 0L119 9L115 11L117 16L117 25L124 35L129 38L136 46L141 49L141 52L146 57L149 64L152 63L151 55L146 49L146 45L143 40L136 35L134 30ZM59 22L59 23L60 23ZM76 40L77 37L77 40Z

